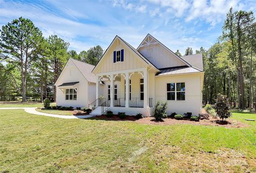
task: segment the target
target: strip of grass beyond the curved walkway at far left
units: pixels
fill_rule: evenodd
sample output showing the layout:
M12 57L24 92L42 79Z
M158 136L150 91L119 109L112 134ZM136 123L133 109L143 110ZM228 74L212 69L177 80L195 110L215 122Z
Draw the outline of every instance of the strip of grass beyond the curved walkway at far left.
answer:
M55 106L56 103L51 103L51 106ZM18 101L12 101L8 103L0 102L0 108L37 108L37 107L44 107L43 103L35 103L35 102L18 102Z

